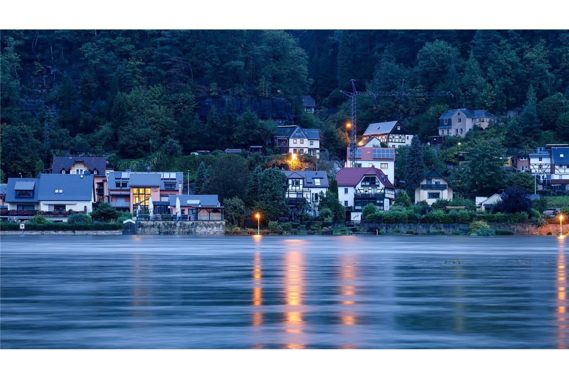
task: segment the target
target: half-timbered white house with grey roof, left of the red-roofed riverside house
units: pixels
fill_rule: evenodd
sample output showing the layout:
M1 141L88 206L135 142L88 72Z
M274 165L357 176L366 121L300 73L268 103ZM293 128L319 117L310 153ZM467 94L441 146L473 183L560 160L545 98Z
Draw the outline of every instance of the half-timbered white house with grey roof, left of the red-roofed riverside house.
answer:
M284 171L287 177L286 198L291 208L306 201L312 215L318 215L319 194L329 189L328 175L325 171Z

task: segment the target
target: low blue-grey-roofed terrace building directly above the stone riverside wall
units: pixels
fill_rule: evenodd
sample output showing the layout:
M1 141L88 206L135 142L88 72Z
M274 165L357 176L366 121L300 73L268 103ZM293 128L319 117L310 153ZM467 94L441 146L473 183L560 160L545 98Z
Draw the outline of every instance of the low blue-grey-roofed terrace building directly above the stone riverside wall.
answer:
M176 215L176 201L180 201L180 215L189 221L222 221L223 207L217 195L170 195L170 214Z

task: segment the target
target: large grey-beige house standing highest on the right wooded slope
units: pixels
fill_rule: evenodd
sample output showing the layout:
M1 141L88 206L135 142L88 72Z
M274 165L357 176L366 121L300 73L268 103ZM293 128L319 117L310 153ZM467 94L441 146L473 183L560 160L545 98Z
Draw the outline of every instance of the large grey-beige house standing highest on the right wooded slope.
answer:
M486 129L494 123L496 116L483 109L449 109L439 118L439 135L464 137L475 125Z

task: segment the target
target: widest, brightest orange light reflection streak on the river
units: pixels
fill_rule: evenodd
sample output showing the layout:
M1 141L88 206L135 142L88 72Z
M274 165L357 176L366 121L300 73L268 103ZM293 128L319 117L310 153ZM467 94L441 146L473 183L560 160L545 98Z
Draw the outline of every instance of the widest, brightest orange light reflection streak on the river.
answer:
M298 251L290 251L286 255L286 314L285 327L287 334L286 347L288 349L302 349L306 347L303 342L303 268L302 255Z

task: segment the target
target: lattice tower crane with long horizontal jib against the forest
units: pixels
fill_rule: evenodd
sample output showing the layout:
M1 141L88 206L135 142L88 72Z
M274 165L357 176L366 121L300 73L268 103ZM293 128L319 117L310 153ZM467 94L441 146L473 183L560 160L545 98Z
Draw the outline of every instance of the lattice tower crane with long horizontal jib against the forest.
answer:
M349 97L352 101L352 109L350 115L350 122L346 124L346 128L350 132L350 153L349 153L349 165L350 167L356 167L356 155L357 155L357 147L356 147L356 138L357 138L357 118L356 118L356 111L357 111L357 97L358 96L372 96L373 98L382 97L382 96L413 96L413 97L424 97L424 96L450 96L455 97L455 94L448 91L379 91L379 92L372 92L372 91L358 91L356 89L356 80L351 79L350 83L352 84L352 92L340 90L341 93Z

